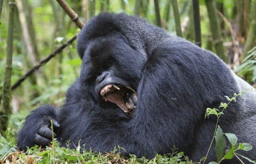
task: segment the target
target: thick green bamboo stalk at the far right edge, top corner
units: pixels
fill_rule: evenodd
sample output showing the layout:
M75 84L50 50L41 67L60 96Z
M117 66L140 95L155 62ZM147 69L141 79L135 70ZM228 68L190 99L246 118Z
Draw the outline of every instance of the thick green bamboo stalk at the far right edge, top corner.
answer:
M249 26L249 31L247 38L245 40L244 44L244 50L243 50L243 56L247 56L247 52L253 48L255 45L256 40L256 0L253 0L251 2L251 9L250 9L250 16L251 16L251 22Z

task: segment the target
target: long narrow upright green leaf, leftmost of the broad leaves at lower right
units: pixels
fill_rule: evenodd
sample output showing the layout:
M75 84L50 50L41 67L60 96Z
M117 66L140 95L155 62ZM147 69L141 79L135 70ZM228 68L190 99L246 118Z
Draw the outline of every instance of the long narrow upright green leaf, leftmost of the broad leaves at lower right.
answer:
M216 142L215 149L217 151L217 162L219 162L219 161L221 161L221 159L223 157L223 153L226 148L226 138L224 137L222 129L219 125L218 125L216 134L214 137L215 137L215 142Z

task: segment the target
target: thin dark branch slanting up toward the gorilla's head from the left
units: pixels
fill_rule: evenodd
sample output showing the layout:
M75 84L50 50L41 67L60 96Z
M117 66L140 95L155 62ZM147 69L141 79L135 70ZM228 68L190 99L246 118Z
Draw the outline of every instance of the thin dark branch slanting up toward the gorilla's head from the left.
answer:
M62 44L58 48L56 48L51 54L49 54L45 59L41 60L39 64L31 68L25 75L23 75L12 87L12 90L15 90L16 87L18 87L27 77L29 77L35 70L38 70L42 65L47 63L51 58L56 56L56 54L60 53L65 47L67 47L69 44L71 44L76 39L76 35L74 35L72 38L67 40L66 43Z

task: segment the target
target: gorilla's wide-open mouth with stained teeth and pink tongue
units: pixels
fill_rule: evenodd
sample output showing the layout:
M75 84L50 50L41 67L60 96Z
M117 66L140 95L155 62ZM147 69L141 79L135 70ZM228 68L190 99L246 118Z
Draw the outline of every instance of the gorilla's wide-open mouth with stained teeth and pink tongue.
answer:
M136 92L123 85L109 84L104 86L100 95L105 101L112 102L119 106L128 116L133 116L137 104Z

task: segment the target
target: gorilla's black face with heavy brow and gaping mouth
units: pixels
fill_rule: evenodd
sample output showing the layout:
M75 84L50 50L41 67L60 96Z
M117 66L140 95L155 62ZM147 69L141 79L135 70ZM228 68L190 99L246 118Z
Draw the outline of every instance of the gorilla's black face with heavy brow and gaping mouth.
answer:
M145 60L120 33L95 38L84 52L80 80L96 101L109 101L132 116Z

